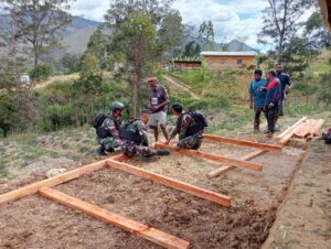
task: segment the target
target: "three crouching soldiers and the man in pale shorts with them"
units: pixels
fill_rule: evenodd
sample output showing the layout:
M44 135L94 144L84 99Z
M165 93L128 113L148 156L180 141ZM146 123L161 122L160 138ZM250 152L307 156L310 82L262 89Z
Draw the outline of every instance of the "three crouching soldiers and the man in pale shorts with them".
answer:
M114 152L116 148L129 155L142 155L146 158L153 155L168 155L167 150L154 150L150 147L147 129L153 130L154 141L159 141L159 128L161 129L166 144L179 134L177 149L193 149L197 150L201 147L202 133L206 126L203 116L196 112L184 112L181 104L172 105L172 112L178 117L177 126L169 136L167 131L167 111L169 96L167 89L161 86L157 77L148 78L150 86L148 109L141 111L139 119L130 119L122 123L121 116L125 110L125 105L120 101L115 101L110 105L110 115L99 115L94 127L97 133L99 148L98 155L106 155Z

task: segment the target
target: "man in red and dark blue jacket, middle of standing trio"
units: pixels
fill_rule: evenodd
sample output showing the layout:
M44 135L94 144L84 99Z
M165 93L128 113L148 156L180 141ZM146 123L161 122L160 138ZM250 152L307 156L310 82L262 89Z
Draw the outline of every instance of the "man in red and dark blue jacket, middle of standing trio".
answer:
M275 71L268 72L269 84L266 88L267 96L265 101L265 113L268 121L267 138L273 138L275 132L275 117L278 115L279 102L281 100L281 86L278 78L276 78Z

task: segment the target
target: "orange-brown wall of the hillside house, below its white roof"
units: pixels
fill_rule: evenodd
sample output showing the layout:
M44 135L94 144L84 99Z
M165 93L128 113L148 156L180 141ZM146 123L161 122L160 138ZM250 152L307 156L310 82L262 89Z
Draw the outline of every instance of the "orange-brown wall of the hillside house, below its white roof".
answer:
M225 67L239 68L250 66L254 56L203 56L206 59L209 69L220 69Z

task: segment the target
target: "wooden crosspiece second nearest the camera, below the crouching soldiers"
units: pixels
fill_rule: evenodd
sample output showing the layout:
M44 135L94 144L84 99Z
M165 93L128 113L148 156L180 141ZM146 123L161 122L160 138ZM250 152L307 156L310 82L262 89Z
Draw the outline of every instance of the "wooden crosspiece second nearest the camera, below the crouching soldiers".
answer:
M150 172L150 171L137 167L137 166L126 164L126 163L117 162L115 160L108 160L106 162L106 165L117 169L117 170L120 170L120 171L125 171L130 174L141 176L143 178L151 180L157 183L161 183L166 186L170 186L170 187L177 188L179 191L183 191L185 193L218 203L226 207L229 207L229 205L231 205L231 198L228 196L225 196L225 195L222 195L222 194L218 194L215 192L211 192L211 191L204 190L202 187L197 187L197 186L194 186L189 183L184 183L184 182L181 182L181 181L178 181L174 178L170 178L168 176L160 175L158 173L153 173L153 172Z

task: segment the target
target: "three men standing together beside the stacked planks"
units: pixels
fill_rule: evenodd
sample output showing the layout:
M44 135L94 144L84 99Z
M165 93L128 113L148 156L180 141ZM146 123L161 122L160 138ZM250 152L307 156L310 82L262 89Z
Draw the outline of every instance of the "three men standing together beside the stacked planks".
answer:
M284 116L284 102L291 86L290 77L282 69L282 65L277 64L276 72L269 71L266 78L263 78L261 69L255 69L248 88L249 107L254 108L254 131L259 132L260 113L265 112L267 138L273 138L278 118Z

